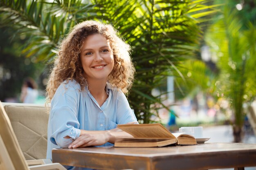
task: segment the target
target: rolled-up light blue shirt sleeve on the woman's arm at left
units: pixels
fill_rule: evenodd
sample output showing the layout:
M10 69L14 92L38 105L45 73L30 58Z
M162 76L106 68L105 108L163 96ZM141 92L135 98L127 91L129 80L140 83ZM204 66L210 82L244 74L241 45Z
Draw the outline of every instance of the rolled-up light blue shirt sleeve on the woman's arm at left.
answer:
M78 95L74 86L61 84L58 87L50 111L50 141L62 148L67 148L80 136L78 115ZM69 136L66 139L64 137Z

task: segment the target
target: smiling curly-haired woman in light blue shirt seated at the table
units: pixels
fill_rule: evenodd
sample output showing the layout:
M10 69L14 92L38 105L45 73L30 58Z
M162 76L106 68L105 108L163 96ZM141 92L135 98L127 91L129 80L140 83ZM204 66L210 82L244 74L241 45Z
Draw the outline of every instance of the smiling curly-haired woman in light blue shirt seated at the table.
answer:
M48 159L53 148L108 146L132 137L116 128L137 123L124 95L135 71L129 51L111 25L96 21L77 24L63 40L47 84Z

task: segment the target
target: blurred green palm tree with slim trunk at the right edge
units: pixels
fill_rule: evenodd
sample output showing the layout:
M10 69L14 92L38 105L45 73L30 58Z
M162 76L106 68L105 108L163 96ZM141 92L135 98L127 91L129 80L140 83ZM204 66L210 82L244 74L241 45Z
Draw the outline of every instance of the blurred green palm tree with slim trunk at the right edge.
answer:
M238 12L225 7L222 18L213 24L207 33L207 42L218 57L220 70L216 82L216 95L231 103L234 124L243 126L243 105L256 96L256 26L239 19Z

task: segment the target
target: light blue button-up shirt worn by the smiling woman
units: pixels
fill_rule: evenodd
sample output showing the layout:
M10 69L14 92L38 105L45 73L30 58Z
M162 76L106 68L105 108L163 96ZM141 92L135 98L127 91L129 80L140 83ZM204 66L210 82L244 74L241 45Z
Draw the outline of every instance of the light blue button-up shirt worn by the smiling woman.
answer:
M81 130L110 130L117 124L137 121L124 93L106 85L108 98L100 107L86 86L81 91L75 81L63 82L51 102L48 122L47 159L52 159L53 148L67 148L78 138ZM69 136L70 139L64 139ZM110 143L104 146L113 145Z

